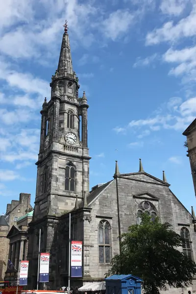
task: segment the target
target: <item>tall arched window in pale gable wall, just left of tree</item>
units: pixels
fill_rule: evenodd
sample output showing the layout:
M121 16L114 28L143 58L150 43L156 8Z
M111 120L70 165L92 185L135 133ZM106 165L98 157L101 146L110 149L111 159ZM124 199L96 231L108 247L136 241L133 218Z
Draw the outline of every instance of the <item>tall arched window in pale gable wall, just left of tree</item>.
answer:
M111 236L108 221L100 221L98 225L98 255L99 263L110 263L111 261Z

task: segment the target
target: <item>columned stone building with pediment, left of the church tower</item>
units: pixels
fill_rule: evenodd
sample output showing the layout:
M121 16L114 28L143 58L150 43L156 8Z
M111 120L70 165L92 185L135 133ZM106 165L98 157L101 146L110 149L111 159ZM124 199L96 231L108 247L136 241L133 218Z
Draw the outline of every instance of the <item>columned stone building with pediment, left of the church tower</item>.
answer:
M32 220L33 210L18 218L13 224L7 238L9 239L9 251L7 269L5 271L5 281L10 285L17 284L19 261L26 260L28 248L28 223Z

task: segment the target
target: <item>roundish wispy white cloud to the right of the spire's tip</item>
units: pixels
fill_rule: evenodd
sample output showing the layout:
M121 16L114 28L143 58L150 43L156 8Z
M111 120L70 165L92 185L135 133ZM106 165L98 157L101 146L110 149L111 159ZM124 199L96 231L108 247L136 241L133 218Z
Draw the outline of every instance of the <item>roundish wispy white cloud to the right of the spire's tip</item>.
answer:
M128 31L133 22L133 18L133 15L128 9L119 9L112 12L102 23L102 30L105 36L115 41L118 37Z

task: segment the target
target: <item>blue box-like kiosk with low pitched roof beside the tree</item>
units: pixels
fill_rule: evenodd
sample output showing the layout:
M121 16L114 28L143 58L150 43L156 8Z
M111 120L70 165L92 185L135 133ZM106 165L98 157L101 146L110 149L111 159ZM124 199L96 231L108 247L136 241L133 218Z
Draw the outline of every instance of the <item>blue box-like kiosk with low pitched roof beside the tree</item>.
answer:
M142 279L132 274L114 274L104 281L106 294L141 294Z

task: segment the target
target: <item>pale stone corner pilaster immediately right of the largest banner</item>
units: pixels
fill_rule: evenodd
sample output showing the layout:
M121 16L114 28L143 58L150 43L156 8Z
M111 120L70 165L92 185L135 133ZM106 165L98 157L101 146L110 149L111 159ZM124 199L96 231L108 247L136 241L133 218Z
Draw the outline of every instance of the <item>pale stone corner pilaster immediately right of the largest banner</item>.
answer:
M84 260L84 276L87 276L90 274L89 271L89 265L90 265L90 244L89 244L89 229L90 229L90 221L91 217L90 216L84 216L83 217L84 221L84 250L83 250L83 260Z

